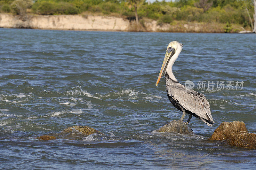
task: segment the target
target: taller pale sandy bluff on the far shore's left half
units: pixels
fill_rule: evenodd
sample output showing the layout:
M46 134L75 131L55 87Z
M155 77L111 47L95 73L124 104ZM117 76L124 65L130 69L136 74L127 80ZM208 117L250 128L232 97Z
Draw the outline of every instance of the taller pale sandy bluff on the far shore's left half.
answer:
M128 26L129 21L117 17L39 15L29 16L22 21L18 16L0 14L0 27L7 28L127 31Z

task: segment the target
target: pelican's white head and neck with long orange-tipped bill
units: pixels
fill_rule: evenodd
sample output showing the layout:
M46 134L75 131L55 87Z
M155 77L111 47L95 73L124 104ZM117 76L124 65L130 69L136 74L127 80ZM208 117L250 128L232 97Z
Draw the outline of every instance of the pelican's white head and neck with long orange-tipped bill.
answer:
M156 86L158 85L160 79L163 77L165 72L169 71L171 72L170 74L172 74L172 65L174 64L175 60L178 58L182 50L182 47L183 47L183 44L179 43L178 41L172 41L171 43L168 44L165 57L164 57L164 62L162 64L160 73L156 81Z

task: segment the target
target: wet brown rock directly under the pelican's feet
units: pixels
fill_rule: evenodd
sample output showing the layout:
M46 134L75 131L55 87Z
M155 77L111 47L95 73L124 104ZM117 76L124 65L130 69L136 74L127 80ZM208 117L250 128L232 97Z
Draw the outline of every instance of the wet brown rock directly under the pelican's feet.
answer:
M193 130L181 120L172 120L163 127L156 130L157 132L177 132L183 135L195 134Z

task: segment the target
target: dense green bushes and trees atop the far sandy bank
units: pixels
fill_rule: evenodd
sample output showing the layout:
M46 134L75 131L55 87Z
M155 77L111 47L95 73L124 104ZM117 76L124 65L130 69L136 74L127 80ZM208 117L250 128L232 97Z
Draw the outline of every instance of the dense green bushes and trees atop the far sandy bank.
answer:
M56 15L99 13L118 15L134 19L132 0L0 0L1 12L20 14L17 3L26 2L27 12ZM253 18L252 0L175 0L173 2L155 1L148 4L137 1L139 18L155 19L159 23L171 23L173 20L235 23L249 26L250 20L246 9Z

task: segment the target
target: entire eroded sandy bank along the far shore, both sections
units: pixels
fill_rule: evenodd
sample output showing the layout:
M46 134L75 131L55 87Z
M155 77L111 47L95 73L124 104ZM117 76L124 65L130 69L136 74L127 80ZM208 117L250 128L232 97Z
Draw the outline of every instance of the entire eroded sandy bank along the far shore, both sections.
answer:
M223 24L222 24L223 25ZM152 32L224 32L221 24L192 23L179 21L172 24L158 24L145 20L140 31ZM93 15L29 15L27 18L0 13L0 27L64 30L136 31L133 22L121 17Z

